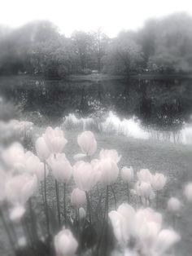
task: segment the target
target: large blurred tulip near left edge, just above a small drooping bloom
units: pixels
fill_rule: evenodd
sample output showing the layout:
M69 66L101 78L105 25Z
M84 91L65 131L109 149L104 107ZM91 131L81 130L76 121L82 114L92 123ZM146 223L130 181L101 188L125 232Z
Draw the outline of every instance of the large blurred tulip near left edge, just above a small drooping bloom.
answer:
M37 189L37 177L29 174L11 176L6 183L6 198L13 205L24 205Z

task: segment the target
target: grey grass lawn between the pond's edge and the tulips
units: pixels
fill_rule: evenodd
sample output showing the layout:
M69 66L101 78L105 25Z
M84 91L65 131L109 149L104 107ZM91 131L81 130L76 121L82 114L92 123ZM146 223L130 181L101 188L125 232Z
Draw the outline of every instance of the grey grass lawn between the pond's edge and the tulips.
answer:
M35 128L35 133L41 135L45 129ZM68 144L64 152L74 163L72 157L80 152L76 137L79 132L66 131ZM106 135L94 133L98 142L98 152L101 148L115 148L122 155L119 167L133 166L134 170L148 168L152 172L161 172L168 176L168 183L159 195L159 211L165 213L169 196L178 196L183 202L181 215L176 221L176 230L181 234L181 242L177 245L177 255L191 256L192 252L192 205L188 205L182 196L182 188L188 181L192 181L192 146L175 145L173 143L155 142L152 140L132 139L120 135ZM50 186L50 189L53 187ZM120 179L115 184L118 205L127 200L126 186ZM133 198L132 198L133 201ZM168 214L164 217L168 222ZM167 225L168 226L168 225ZM2 229L1 229L2 230ZM2 232L2 231L0 231ZM0 247L6 247L2 242ZM1 249L1 248L0 248ZM4 256L4 254L1 254Z

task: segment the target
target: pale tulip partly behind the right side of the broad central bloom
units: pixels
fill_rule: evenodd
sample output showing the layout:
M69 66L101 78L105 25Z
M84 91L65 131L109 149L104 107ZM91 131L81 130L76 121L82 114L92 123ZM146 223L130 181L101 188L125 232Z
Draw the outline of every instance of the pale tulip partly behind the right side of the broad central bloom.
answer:
M116 182L119 174L119 168L115 161L110 158L103 159L100 161L98 170L101 172L99 181L105 185L111 185Z

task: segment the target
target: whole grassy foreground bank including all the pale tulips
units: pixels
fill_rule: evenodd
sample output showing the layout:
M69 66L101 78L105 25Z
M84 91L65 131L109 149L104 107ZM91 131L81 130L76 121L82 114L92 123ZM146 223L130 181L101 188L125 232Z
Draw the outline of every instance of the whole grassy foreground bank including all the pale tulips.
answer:
M190 147L49 127L32 151L18 143L2 151L13 254L160 256L185 247L188 255Z

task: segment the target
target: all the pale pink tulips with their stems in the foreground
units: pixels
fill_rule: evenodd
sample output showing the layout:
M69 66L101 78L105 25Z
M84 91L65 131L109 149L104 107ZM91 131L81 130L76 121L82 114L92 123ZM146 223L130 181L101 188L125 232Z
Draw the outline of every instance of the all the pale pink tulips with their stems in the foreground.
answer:
M54 245L56 256L73 256L89 249L95 255L112 254L108 248L110 227L116 238L114 251L120 255L163 256L180 240L172 228L163 227L162 214L154 210L155 207L158 209L159 193L167 182L164 174L153 174L148 169L136 173L132 166L120 170L121 156L115 149L101 149L97 154L97 141L91 131L78 135L81 153L73 157L74 163L63 152L67 143L63 130L48 127L35 143L36 152L26 152L20 143L13 143L2 152L0 214L14 251L20 247L20 240L14 241L7 228L7 218L4 218L7 211L11 222L22 223L24 233L28 233L26 215L29 211L32 231L27 237L33 253L33 243L41 240L50 251ZM116 200L118 191L113 184L120 178L127 184L126 203ZM56 207L50 214L47 186L53 180L55 197L49 199ZM32 202L39 193L45 213L43 232L38 224L41 218L34 218L36 210ZM191 183L185 187L184 195L192 201ZM115 205L111 201L115 201ZM137 209L131 205L134 201L137 201ZM118 209L116 205L119 205ZM176 216L180 209L180 201L170 198L168 212ZM35 255L38 255L37 251Z

